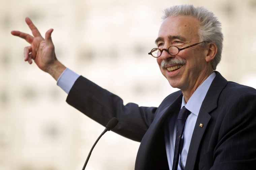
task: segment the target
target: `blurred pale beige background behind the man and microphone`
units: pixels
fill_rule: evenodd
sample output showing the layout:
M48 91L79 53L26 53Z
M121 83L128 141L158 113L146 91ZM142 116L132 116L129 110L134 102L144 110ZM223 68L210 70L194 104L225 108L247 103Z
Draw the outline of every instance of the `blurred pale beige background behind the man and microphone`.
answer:
M56 81L23 60L29 44L11 30L53 28L58 59L124 103L158 106L171 92L148 52L163 9L204 6L222 22L224 49L217 71L256 88L256 0L2 0L0 6L0 170L79 170L104 127L66 102ZM134 169L139 143L107 132L88 170Z

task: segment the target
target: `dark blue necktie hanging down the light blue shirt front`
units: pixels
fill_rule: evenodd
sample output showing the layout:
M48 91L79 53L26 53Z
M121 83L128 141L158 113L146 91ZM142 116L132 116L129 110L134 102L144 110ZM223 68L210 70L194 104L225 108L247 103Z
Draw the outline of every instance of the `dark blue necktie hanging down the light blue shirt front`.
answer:
M179 157L182 151L181 145L181 138L184 132L184 127L186 120L188 118L190 111L184 107L181 108L181 111L179 112L178 119L176 121L177 124L177 133L176 133L176 139L175 139L175 147L174 147L174 157L173 157L173 164L172 164L172 170L177 170L178 164L179 164Z

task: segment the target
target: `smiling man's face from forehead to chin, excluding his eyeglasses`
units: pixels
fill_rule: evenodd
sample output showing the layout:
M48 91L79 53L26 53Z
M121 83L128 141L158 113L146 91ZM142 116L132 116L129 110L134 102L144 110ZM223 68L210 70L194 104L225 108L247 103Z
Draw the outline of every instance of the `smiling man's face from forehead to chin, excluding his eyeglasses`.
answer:
M175 16L166 18L159 30L156 44L160 49L168 49L170 46L183 48L199 43L199 21L191 16ZM205 56L207 50L199 45L182 50L172 56L166 51L157 58L157 63L162 74L167 78L173 88L179 88L183 92L194 92L202 83L209 72ZM161 67L161 63L168 59L182 60L183 62L169 63ZM172 71L169 71L172 70Z

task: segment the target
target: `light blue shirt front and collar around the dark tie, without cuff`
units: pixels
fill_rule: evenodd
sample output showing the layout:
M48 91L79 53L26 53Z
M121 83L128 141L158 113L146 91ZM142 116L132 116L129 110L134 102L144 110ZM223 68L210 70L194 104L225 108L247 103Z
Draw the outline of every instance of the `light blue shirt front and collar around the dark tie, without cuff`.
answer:
M213 72L203 83L196 89L193 95L188 100L188 103L185 102L184 96L182 97L182 105L185 106L191 113L188 116L188 119L185 124L183 138L184 138L184 146L180 156L180 161L178 165L178 170L185 169L186 160L188 156L188 150L192 138L192 134L194 131L196 119L201 108L202 102L205 98L207 91L209 90L212 81L216 73ZM175 116L175 118L173 118ZM175 138L176 138L176 119L178 115L170 115L169 116L169 123L165 126L165 148L167 153L167 159L169 167L172 167L173 163L173 155L174 155L174 145L175 145ZM198 125L199 126L199 125ZM170 168L172 169L172 168Z

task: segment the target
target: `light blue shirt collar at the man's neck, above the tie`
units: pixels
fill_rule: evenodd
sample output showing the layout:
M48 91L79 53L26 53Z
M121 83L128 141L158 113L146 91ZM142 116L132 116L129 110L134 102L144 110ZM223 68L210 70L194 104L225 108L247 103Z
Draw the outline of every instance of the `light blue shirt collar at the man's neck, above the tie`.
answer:
M213 79L215 78L216 73L213 72L209 77L207 77L203 83L196 89L196 91L192 94L190 99L188 100L188 103L185 102L184 96L182 97L182 105L186 106L186 108L196 116L198 116L199 110L201 108L201 105L203 103L203 100L206 96L207 91L209 90Z

